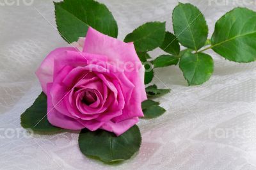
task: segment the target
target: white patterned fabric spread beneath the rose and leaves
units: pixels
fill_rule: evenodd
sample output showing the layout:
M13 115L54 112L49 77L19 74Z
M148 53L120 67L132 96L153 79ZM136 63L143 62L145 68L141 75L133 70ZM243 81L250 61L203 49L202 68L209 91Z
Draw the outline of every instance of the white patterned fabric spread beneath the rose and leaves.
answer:
M100 2L113 12L120 39L153 20L167 20L172 31L171 12L177 1ZM182 2L203 11L211 37L216 20L241 1ZM256 10L254 1L244 2ZM51 0L0 6L0 169L256 169L256 63L225 61L211 50L214 74L202 86L188 87L178 66L156 71L154 82L172 89L159 98L167 112L139 123L140 152L123 164L108 166L84 157L76 133L26 137L20 114L41 92L34 72L47 53L67 45L55 27ZM151 54L156 57L159 52Z

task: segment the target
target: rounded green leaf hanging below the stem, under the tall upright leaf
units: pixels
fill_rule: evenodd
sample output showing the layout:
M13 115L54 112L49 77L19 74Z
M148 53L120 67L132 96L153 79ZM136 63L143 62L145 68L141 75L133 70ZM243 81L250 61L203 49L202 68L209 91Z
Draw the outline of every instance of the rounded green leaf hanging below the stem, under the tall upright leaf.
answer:
M179 66L188 84L198 85L210 79L214 63L208 54L186 52L181 57Z

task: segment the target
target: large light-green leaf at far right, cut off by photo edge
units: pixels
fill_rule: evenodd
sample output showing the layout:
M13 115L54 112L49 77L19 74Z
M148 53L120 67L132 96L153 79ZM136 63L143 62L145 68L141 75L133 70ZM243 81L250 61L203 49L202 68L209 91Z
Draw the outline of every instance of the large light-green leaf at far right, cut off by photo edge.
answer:
M212 49L230 61L256 60L256 12L235 8L216 22Z

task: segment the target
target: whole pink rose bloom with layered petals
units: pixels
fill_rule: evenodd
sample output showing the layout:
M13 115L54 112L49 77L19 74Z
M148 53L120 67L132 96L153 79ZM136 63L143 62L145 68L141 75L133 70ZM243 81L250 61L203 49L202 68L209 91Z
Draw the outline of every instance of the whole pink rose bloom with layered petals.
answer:
M147 99L133 43L90 27L73 46L53 50L36 71L47 95L47 119L70 130L124 133L143 116Z

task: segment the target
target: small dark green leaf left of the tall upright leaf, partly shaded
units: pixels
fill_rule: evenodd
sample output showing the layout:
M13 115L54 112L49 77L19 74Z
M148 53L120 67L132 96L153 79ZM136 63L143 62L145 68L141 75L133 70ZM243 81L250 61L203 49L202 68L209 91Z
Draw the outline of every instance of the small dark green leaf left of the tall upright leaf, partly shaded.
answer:
M175 56L179 56L179 53L180 53L179 41L176 38L176 36L170 32L165 33L164 42L162 43L160 48L165 52L168 52Z

